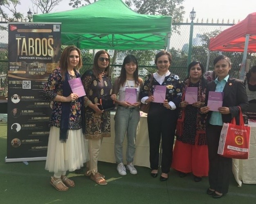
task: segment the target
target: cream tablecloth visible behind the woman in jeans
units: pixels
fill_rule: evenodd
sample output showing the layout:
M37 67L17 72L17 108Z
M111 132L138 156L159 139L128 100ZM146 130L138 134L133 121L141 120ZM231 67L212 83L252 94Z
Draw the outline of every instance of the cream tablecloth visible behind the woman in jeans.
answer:
M142 113L142 112L141 112ZM111 112L111 137L103 138L101 144L101 150L99 152L99 161L116 163L115 154L114 154L114 143L115 143L115 121L114 121L115 112ZM133 165L149 167L149 141L148 141L148 123L145 113L142 113L138 125L138 132L136 138L136 151L134 156ZM126 147L127 140L124 140L123 143L123 157L124 164L126 164Z

